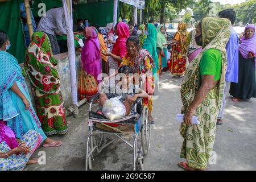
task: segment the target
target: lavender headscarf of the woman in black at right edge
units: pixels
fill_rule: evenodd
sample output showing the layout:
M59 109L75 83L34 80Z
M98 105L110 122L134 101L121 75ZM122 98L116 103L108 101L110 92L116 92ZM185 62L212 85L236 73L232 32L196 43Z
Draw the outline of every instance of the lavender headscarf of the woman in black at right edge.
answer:
M252 28L254 30L254 35L251 38L246 38L244 35L241 39L241 44L239 44L239 51L243 58L248 59L249 58L249 52L252 52L256 55L256 34L255 34L255 26L253 24L248 24L245 27L245 31L248 28Z

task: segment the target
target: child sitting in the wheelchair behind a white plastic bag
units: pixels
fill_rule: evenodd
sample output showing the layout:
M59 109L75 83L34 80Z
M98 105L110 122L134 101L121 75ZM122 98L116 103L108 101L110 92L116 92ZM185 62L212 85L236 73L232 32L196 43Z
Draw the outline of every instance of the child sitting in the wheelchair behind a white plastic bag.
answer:
M127 65L119 67L118 73L124 74L122 79L115 86L115 93L100 93L100 104L103 107L104 102L109 98L121 96L119 101L125 105L126 115L131 112L131 106L136 102L137 98L148 98L146 92L143 93L139 89L139 85L134 84L133 69Z

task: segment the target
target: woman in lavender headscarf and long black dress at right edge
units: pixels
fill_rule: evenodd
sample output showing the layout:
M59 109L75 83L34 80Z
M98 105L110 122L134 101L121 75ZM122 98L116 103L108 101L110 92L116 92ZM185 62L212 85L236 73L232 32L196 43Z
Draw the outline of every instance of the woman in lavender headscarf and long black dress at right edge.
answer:
M239 45L238 83L231 82L230 95L233 101L250 99L256 97L255 84L255 54L256 34L255 26L249 24L245 27L245 34L242 35Z

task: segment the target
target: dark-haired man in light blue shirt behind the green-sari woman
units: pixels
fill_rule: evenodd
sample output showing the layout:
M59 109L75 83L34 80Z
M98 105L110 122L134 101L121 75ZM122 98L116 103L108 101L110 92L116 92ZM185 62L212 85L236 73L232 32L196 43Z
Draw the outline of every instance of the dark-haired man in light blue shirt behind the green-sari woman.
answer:
M233 25L236 20L236 12L233 9L226 9L218 13L220 18L227 18ZM226 93L228 93L228 88L230 82L238 82L238 35L237 32L232 27L231 35L228 44L226 44L226 54L228 69L225 76L225 88L223 101L220 108L220 113L218 114L217 125L222 125L222 116L224 112L224 107L226 104Z

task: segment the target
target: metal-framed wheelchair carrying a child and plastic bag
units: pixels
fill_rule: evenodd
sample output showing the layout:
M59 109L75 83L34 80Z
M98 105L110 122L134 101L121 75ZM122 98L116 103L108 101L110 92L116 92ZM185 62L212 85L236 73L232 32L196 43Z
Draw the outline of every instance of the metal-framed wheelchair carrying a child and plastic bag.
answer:
M110 121L98 113L101 111L100 104L98 104L99 98L100 94L98 93L89 101L89 137L86 144L85 170L92 169L94 154L100 154L104 148L119 139L133 150L133 170L143 171L144 156L150 150L150 111L148 107L142 105L142 98L138 98L129 115ZM113 136L111 139L109 139L110 135Z

